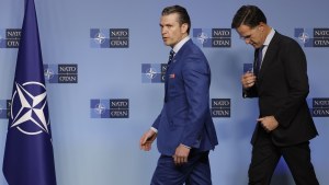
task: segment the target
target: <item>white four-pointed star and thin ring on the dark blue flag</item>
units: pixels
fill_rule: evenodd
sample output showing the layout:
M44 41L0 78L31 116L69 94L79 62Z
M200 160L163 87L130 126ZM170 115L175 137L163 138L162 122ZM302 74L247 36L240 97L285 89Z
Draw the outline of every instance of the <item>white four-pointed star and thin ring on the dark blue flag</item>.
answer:
M33 95L26 89L24 89L25 85L31 84L39 85L44 89L44 91L41 94ZM16 95L20 101L21 107L16 113L13 113L13 103ZM45 91L45 85L39 82L26 82L23 85L15 83L15 91L12 95L11 107L12 125L10 127L16 127L20 131L26 135L38 135L43 131L49 134L47 127L48 122L46 120L46 116L44 113L44 108L47 106L46 96L47 93ZM20 127L27 122L32 122L35 126L39 128L39 130L26 131Z

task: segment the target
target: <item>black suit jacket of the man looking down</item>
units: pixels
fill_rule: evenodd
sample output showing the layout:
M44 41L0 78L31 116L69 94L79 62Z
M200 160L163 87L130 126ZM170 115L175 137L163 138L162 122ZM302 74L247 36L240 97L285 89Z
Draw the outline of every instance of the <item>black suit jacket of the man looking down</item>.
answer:
M258 49L254 56L258 56ZM260 117L273 115L279 122L279 127L271 132L274 144L291 146L318 135L306 103L308 92L303 49L296 41L275 32L256 85L243 92L243 96L259 97ZM261 129L257 124L252 143Z

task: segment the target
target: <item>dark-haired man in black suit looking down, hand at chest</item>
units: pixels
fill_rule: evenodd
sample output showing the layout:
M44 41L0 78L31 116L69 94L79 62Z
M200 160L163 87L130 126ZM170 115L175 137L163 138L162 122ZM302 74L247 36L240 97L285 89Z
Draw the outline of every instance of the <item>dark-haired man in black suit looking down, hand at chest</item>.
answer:
M256 49L253 72L241 78L243 97L259 97L260 111L251 139L249 184L270 184L283 157L297 185L318 185L309 149L318 132L306 103L309 86L303 49L270 27L254 5L242 5L231 27Z

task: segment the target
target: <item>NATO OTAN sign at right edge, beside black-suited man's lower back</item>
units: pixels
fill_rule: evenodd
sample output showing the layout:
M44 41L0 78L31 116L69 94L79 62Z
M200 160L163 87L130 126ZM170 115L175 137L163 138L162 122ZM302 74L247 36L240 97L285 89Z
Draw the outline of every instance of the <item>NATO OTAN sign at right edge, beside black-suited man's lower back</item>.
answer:
M315 97L311 105L313 117L329 117L329 97Z

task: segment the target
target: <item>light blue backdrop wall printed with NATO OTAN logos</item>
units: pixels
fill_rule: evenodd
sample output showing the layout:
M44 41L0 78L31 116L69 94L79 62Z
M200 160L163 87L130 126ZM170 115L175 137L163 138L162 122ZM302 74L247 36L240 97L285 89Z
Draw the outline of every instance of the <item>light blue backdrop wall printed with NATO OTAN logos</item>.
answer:
M212 111L219 139L211 153L214 184L248 182L258 108L257 100L241 97L240 76L252 61L253 48L230 30L242 4L259 5L268 23L298 41L307 55L308 103L320 135L311 141L311 157L320 184L328 184L329 1L35 0L58 184L149 184L159 153L156 146L140 151L138 141L162 106L161 63L169 48L161 41L159 18L172 4L190 12L191 37L212 68ZM23 0L1 0L1 166L23 13ZM0 184L7 185L2 173ZM294 184L283 161L273 184Z

